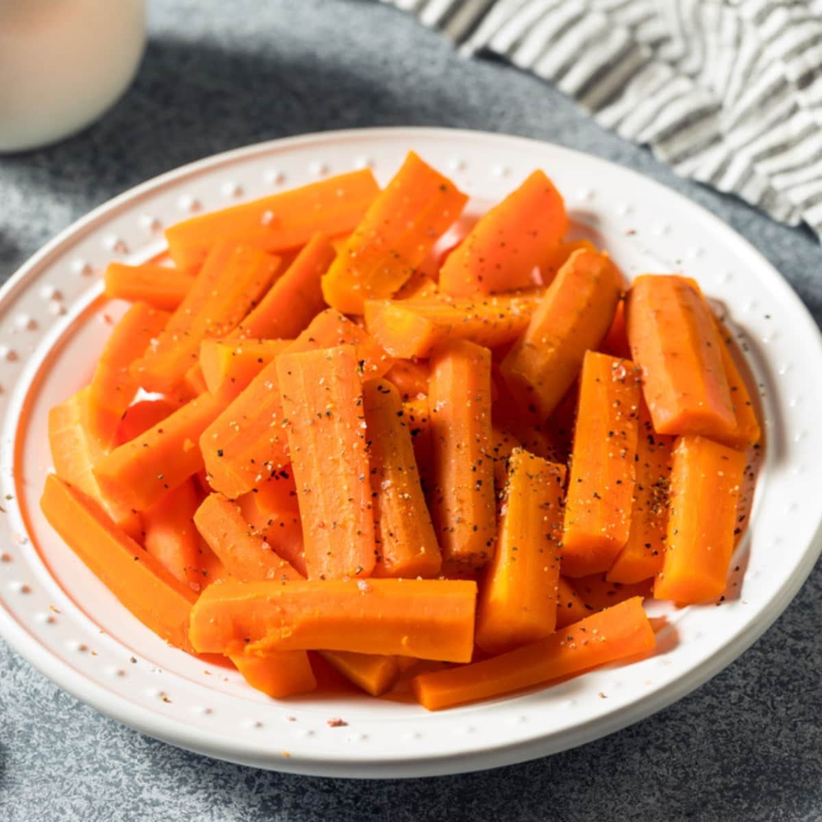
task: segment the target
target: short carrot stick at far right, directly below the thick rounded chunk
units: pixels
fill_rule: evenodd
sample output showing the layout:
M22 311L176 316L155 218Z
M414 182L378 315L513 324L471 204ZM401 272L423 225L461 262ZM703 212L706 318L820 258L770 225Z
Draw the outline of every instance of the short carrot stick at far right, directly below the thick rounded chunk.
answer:
M723 593L744 471L741 451L704 436L677 437L667 543L655 598L685 605Z

